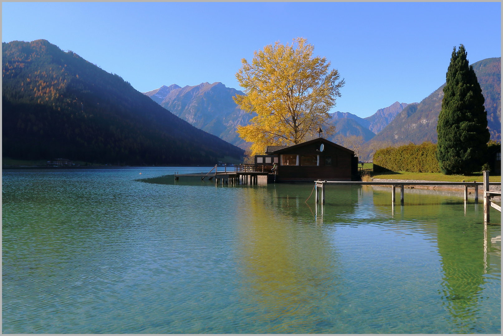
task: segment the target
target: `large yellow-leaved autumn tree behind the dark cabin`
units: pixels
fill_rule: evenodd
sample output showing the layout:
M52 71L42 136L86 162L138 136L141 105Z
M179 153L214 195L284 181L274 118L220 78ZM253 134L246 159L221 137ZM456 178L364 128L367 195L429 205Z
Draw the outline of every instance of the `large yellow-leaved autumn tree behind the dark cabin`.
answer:
M251 63L241 60L236 78L246 95L233 98L257 116L238 126L237 133L253 143L253 154L262 153L267 145L298 144L320 126L325 137L333 134L334 127L326 120L341 96L344 79L339 80L336 69L329 70L325 57L313 56L313 50L306 39L296 38L291 45L276 42L255 51Z

